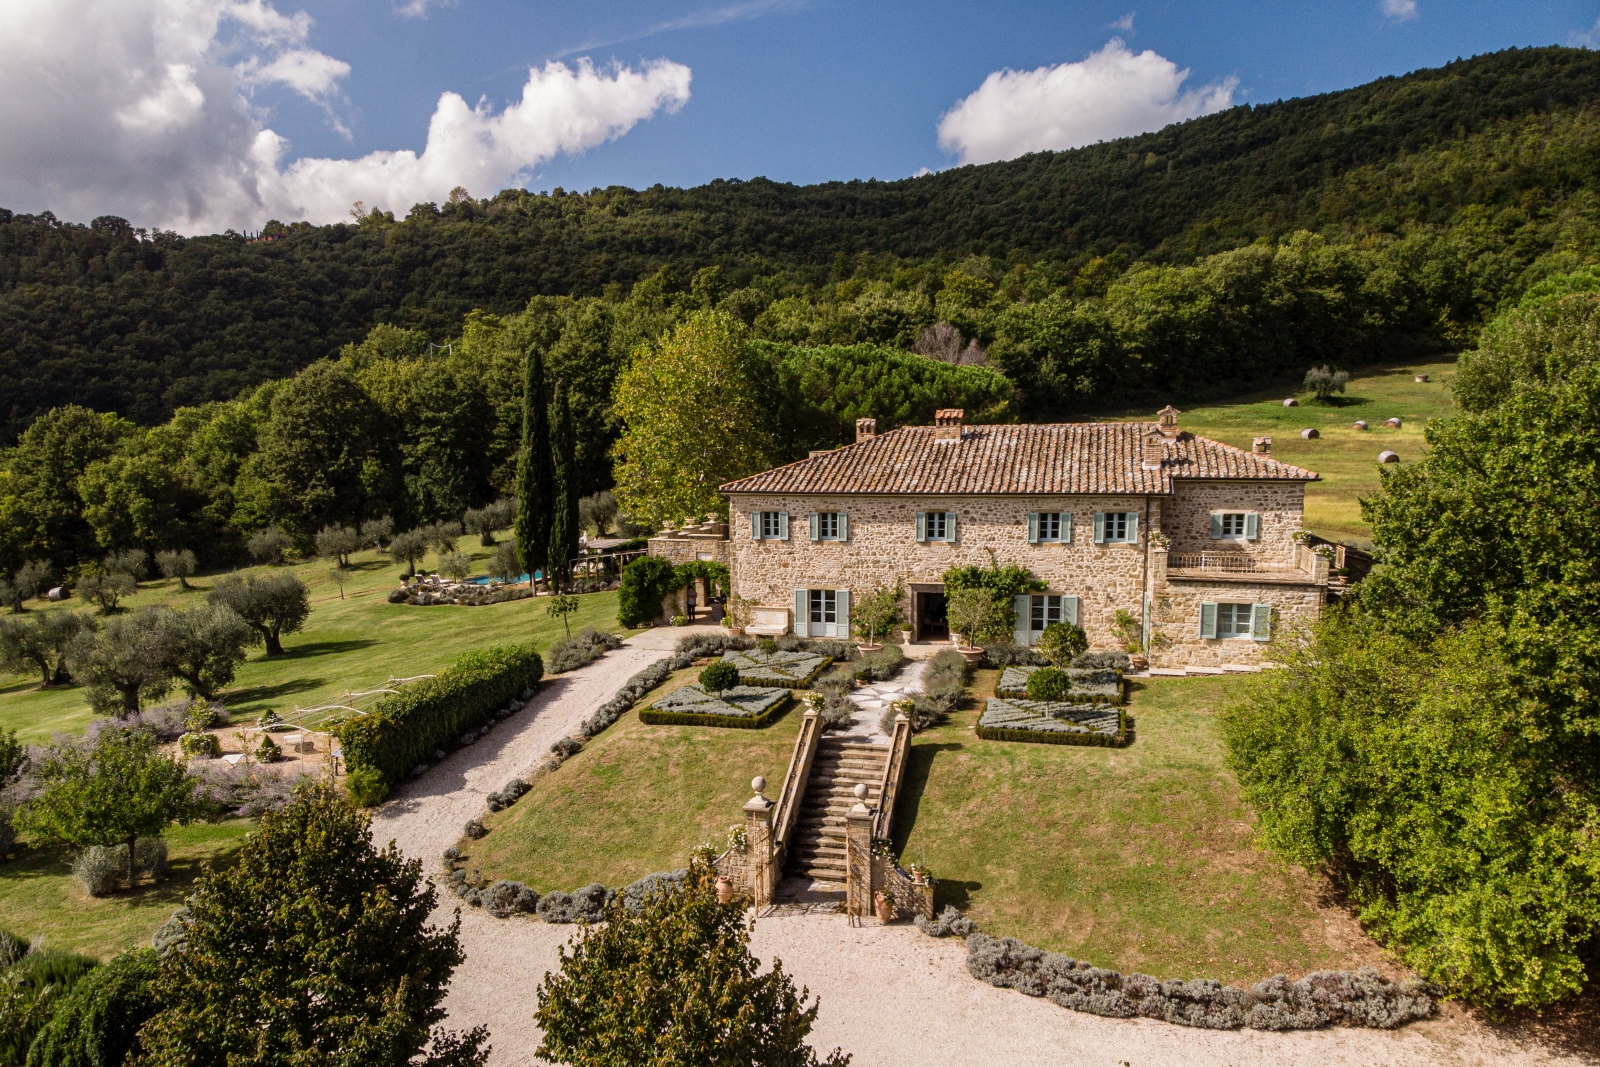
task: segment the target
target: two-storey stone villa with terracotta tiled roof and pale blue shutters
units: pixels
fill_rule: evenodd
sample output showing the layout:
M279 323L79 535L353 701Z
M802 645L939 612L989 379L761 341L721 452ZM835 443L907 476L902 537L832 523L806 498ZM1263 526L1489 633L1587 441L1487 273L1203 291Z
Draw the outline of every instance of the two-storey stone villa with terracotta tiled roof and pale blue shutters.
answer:
M882 435L858 419L853 445L722 486L733 592L762 621L848 637L851 598L901 582L912 640L938 641L946 569L1018 565L1046 584L1016 598L1018 643L1067 619L1115 648L1126 611L1154 667L1258 664L1274 627L1328 600L1328 561L1298 536L1317 474L1178 416L963 426L947 410Z

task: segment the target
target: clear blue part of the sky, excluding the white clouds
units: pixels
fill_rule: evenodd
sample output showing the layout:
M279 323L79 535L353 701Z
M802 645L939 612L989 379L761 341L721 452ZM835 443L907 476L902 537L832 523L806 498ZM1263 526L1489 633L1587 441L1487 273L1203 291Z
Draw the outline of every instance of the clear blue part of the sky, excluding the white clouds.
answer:
M1387 74L1510 45L1574 43L1600 3L1418 0L1413 18L1379 0L1317 3L506 3L459 0L403 18L394 3L294 5L315 19L310 43L347 61L354 134L293 93L277 93L274 128L296 154L413 147L445 90L469 102L514 99L530 64L592 56L693 69L693 94L581 157L536 168L534 189L690 186L765 174L779 181L893 179L957 160L936 123L1003 67L1082 61L1112 37L1154 50L1186 86L1238 78L1237 102L1360 85ZM1114 27L1133 14L1133 29ZM682 27L670 29L678 22ZM666 27L666 29L656 29ZM656 32L651 32L656 29ZM261 102L266 102L264 99ZM488 190L472 190L475 194Z

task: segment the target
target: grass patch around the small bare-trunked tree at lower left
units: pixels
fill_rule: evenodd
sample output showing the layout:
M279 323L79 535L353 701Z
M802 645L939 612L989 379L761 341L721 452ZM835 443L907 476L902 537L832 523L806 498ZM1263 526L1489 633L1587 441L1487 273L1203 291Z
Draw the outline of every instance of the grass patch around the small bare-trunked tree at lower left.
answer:
M203 870L232 862L253 819L200 822L166 832L171 873L134 891L91 897L72 877L67 849L19 849L0 862L0 928L19 937L45 937L53 949L70 949L109 960L123 949L150 944L150 934L182 907Z

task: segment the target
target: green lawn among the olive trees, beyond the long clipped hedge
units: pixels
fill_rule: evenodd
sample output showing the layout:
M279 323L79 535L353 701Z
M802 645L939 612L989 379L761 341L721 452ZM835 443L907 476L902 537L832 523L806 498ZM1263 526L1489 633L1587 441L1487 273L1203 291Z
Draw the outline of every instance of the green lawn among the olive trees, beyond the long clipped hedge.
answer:
M480 571L493 552L478 545L475 536L462 537L461 549L474 557ZM224 697L235 718L253 720L270 709L293 720L296 705L333 704L347 691L371 689L392 677L432 673L474 648L507 641L534 641L544 648L563 633L560 619L546 614L549 600L544 597L482 608L392 605L389 590L398 585L402 568L378 552L360 552L350 563L342 600L325 560L288 568L310 587L310 617L301 633L283 638L286 654L269 659L259 648L251 649ZM275 568L240 573L269 569ZM216 576L190 579L192 592L178 589L176 582L147 582L123 603L128 608L154 603L186 608L203 603L214 581ZM582 606L568 621L573 630L582 625L616 629L614 592L586 593L579 600ZM75 600L51 606L35 600L30 606L35 611L91 611ZM14 728L27 741L45 741L54 731L82 731L91 718L85 689L40 691L37 685L30 675L0 677L0 729ZM174 689L178 694L181 691ZM307 723L315 725L320 718Z

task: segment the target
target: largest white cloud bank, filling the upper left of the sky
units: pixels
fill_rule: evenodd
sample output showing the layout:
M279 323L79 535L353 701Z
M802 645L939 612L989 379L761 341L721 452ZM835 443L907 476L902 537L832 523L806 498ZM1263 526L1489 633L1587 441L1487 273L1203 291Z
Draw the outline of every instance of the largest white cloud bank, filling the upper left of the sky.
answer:
M421 154L290 162L250 93L283 85L333 115L350 67L309 30L266 0L0 0L0 205L187 234L333 222L355 200L405 213L456 186L491 194L690 98L690 69L666 59L550 62L504 109L443 93Z

